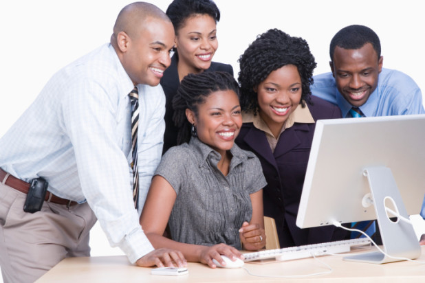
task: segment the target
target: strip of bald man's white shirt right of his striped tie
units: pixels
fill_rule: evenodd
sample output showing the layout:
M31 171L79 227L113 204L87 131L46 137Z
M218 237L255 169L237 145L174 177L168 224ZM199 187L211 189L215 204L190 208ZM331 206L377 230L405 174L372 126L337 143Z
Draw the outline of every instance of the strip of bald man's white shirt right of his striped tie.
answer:
M143 90L139 96L139 215L142 213L153 173L161 161L165 131L165 94L162 87L143 86L140 89Z

